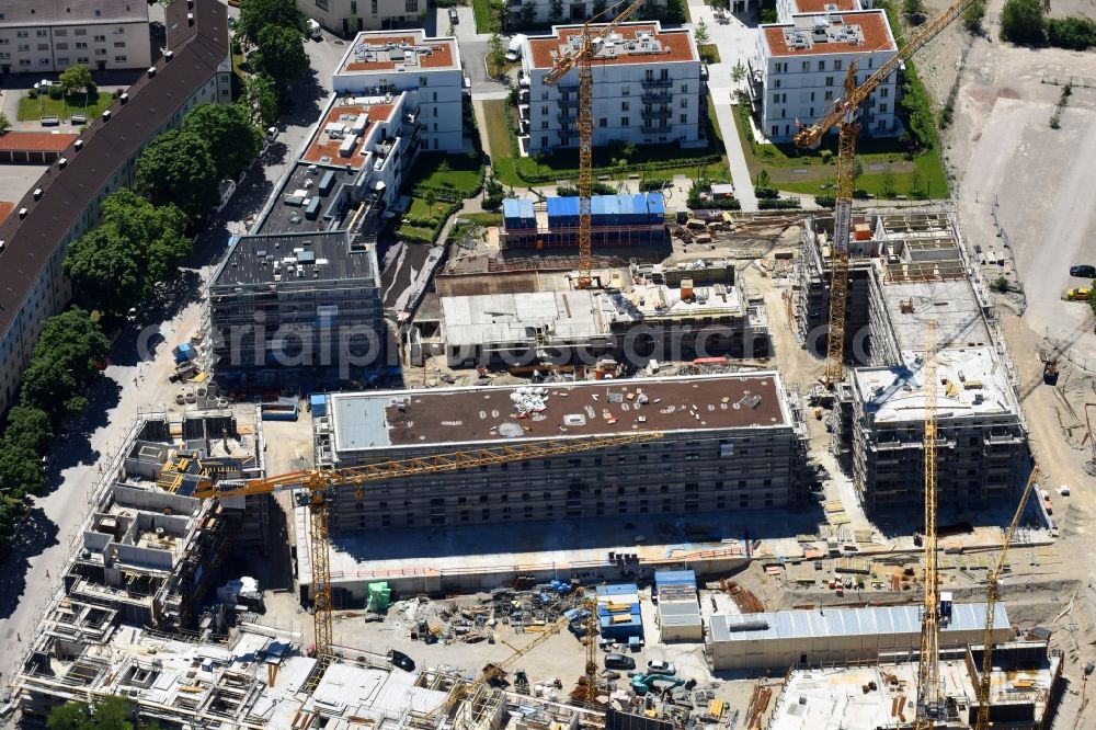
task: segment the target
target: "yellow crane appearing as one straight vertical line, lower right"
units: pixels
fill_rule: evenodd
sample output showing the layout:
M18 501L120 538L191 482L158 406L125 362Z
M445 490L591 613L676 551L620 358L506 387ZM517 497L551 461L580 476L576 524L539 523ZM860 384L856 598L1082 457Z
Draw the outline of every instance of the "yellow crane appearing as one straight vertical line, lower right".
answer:
M936 320L925 327L925 603L921 615L916 730L944 717L940 699L940 586L936 566Z

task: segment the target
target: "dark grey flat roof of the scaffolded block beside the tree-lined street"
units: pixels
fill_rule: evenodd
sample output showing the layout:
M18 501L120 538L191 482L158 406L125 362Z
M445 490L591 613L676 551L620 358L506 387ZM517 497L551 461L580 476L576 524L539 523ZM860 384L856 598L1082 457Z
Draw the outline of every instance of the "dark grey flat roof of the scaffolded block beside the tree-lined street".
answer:
M213 286L306 284L365 278L373 282L368 249L351 251L346 231L241 236L213 281Z

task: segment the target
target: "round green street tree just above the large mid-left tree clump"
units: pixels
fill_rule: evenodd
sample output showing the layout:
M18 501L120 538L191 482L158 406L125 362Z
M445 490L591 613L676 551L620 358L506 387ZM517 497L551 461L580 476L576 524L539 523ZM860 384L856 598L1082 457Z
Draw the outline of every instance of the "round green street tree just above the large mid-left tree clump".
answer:
M137 159L134 189L156 205L174 203L197 220L217 202L217 167L201 137L171 130L157 137Z

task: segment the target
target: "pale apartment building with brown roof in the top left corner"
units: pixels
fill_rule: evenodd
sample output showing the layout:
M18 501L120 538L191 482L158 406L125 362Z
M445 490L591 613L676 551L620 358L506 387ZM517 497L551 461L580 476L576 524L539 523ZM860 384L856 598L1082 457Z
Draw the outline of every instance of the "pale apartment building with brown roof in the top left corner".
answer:
M145 0L0 2L0 73L93 71L152 62Z

